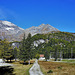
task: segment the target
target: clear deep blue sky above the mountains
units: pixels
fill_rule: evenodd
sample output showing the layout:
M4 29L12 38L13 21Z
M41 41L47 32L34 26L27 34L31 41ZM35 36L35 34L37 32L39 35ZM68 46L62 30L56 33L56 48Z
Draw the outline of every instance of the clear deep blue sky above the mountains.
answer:
M0 0L0 20L24 29L44 23L75 32L75 0Z

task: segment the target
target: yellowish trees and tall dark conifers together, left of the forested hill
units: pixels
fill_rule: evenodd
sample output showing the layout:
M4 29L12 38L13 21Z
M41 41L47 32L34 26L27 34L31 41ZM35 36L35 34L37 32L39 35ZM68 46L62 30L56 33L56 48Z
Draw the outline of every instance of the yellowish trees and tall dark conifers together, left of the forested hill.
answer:
M34 56L34 49L31 34L28 37L24 37L19 43L19 48L12 46L13 42L8 42L6 39L0 40L0 58L8 60L16 59L23 60L24 62L30 60Z

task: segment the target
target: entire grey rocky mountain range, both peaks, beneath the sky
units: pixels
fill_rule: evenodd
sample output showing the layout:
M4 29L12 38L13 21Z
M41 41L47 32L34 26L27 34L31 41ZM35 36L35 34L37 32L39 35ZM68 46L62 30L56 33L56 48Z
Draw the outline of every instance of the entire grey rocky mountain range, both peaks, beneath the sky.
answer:
M49 24L41 24L38 27L32 26L28 29L22 29L8 21L0 21L0 39L6 38L8 41L21 41L25 33L26 37L29 33L32 36L36 34L47 34L52 31L59 31Z

